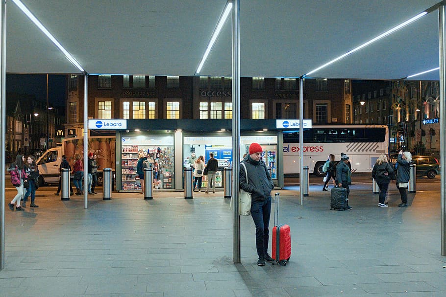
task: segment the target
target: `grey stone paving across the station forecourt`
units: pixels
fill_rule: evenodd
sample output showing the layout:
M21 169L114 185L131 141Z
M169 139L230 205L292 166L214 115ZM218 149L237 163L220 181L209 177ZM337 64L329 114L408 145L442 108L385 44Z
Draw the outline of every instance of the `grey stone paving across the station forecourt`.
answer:
M321 187L310 186L303 206L297 187L279 191L293 246L280 267L256 265L250 217L241 218L242 261L232 263L223 192L113 193L89 196L83 209L80 196L62 202L39 189L39 208L5 206L0 297L446 296L438 183L409 195L407 208L396 207L395 184L388 208L370 184L354 184L351 211L330 210Z

